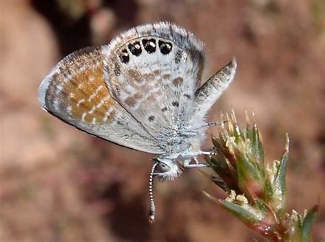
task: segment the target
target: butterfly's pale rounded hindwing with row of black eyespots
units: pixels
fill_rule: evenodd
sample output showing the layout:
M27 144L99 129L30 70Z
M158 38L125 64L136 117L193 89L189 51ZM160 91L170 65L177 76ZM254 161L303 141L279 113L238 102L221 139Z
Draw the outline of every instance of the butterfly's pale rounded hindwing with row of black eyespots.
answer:
M205 62L200 40L171 23L154 23L102 49L110 93L150 134L165 139L186 125Z

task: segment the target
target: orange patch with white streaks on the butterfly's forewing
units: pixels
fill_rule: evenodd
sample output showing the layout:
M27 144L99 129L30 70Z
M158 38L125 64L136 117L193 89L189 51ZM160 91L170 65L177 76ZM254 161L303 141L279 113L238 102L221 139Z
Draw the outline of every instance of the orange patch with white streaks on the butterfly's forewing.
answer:
M115 116L114 110L108 113L108 109L114 107L116 102L110 97L104 82L103 64L73 75L65 83L64 92L71 104L71 115L76 119L99 124Z

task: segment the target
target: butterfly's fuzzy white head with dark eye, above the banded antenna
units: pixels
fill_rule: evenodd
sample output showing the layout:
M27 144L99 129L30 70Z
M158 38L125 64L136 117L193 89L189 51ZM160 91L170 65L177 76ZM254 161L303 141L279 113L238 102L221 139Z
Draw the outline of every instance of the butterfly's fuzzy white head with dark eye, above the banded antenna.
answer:
M158 176L161 180L175 180L180 176L182 170L176 160L169 158L156 158L156 172L154 176Z

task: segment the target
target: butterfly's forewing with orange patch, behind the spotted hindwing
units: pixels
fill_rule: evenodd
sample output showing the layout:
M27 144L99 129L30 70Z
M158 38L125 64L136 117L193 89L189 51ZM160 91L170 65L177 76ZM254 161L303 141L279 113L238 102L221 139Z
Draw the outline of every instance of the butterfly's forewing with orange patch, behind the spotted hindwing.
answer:
M101 48L87 47L71 53L40 85L41 105L84 132L132 149L162 154L155 138L112 98L103 70Z

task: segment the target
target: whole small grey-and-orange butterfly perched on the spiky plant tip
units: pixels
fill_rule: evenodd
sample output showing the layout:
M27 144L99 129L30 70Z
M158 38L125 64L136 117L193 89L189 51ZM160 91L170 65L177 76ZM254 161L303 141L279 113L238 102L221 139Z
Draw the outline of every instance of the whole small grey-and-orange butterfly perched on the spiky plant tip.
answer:
M204 44L182 27L159 22L123 32L110 44L87 47L54 66L38 90L42 107L84 132L156 154L149 178L177 178L204 167L197 156L209 126L206 114L234 78L236 61L202 86ZM191 159L195 161L191 164Z

